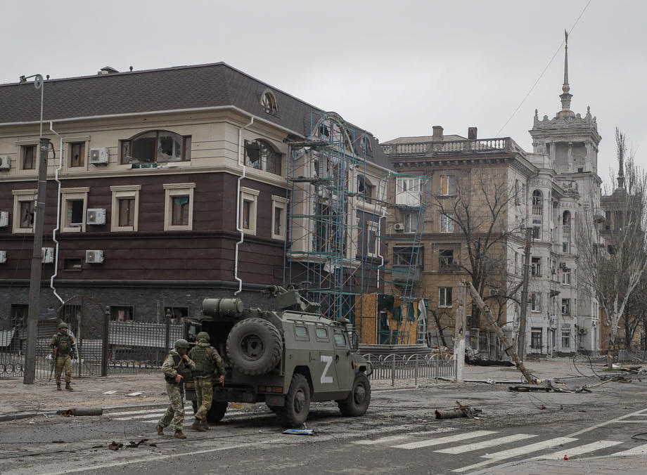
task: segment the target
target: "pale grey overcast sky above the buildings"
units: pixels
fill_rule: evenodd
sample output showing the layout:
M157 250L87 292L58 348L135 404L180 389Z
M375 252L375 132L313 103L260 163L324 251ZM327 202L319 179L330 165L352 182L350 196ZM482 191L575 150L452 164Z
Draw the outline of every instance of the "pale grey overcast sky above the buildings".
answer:
M560 110L563 48L501 129L587 3L0 0L0 84L224 61L380 141L478 126L532 151L534 110ZM591 0L569 36L571 108L597 116L604 179L616 126L645 163L646 18L647 1Z

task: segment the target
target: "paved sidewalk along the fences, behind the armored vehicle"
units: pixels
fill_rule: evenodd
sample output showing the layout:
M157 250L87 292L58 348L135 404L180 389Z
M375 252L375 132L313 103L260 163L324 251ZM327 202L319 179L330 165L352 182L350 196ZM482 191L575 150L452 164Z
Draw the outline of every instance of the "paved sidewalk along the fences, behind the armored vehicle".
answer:
M527 368L540 379L568 378L581 376L575 370L570 358L556 358L549 361L527 362ZM589 365L578 365L585 375L593 375ZM594 365L596 372L601 365ZM520 372L515 367L470 366L465 367L464 384L480 384L471 380L498 382L520 382ZM419 378L418 386L447 384L442 380ZM451 383L452 386L454 383ZM52 380L37 379L34 384L23 384L22 378L0 379L0 421L33 415L34 412L51 412L59 409L77 407L129 408L165 404L168 402L164 379L160 372L129 375L110 375L108 377L84 377L72 379L75 391L56 391ZM371 382L373 390L390 389L391 380L382 379ZM414 379L396 379L395 387L414 387ZM115 391L113 394L104 394ZM142 391L138 396L127 394Z

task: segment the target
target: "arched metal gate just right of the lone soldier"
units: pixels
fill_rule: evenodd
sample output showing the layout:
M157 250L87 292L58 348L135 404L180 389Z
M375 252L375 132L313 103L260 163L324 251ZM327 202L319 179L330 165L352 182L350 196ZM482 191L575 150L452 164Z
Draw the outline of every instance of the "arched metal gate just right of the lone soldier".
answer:
M77 295L58 307L56 318L69 325L68 330L77 341L79 358L72 360L72 376L101 376L106 336L105 311L101 304L92 297Z

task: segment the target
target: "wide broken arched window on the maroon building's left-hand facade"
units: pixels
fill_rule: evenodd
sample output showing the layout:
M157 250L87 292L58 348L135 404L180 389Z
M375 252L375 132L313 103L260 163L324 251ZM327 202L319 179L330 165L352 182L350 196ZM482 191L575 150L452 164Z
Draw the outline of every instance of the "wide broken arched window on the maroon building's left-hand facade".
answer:
M191 136L152 130L121 141L122 164L153 164L191 160Z

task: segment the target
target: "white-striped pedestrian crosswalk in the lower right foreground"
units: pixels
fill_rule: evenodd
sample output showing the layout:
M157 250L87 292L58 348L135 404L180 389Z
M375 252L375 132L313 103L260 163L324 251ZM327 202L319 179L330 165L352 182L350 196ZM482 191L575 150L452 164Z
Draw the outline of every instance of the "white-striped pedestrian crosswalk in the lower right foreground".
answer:
M537 441L538 434L500 434L499 431L470 431L462 434L440 435L429 432L418 432L415 434L403 434L397 436L386 436L381 438L369 439L364 438L353 441L359 445L374 445L380 448L390 448L394 450L432 450L435 453L463 455L466 453L474 454L485 459L482 462L460 467L452 471L456 473L465 473L480 469L496 462L505 462L515 457L527 456L536 460L556 460L568 457L577 457L578 455L638 455L647 453L647 444L638 445L634 448L609 453L622 441L599 440L586 443L577 437L555 437L543 441ZM534 440L533 440L534 439ZM489 452L487 449L497 448L495 452ZM559 448L559 450L555 450ZM484 453L477 454L478 450ZM596 453L597 452L597 453ZM473 459L474 460L474 459Z

